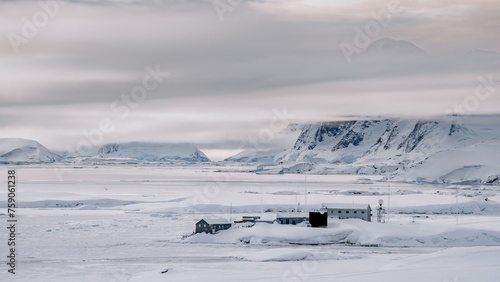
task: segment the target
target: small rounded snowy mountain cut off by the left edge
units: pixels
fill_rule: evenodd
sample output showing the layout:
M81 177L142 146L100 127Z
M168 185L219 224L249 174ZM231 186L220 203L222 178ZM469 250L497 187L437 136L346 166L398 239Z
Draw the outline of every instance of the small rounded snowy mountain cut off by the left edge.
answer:
M36 141L0 138L0 163L53 163L60 159Z

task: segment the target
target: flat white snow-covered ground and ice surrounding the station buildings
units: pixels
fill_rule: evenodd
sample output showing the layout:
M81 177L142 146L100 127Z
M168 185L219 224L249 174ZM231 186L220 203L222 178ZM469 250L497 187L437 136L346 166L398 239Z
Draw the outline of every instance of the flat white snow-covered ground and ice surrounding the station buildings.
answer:
M498 281L498 186L308 175L305 197L304 175L216 169L19 167L17 274L2 263L0 280ZM385 224L258 224L182 239L207 216L270 218L297 202L301 209L325 202L375 208L381 198L390 210ZM0 236L6 242L6 232Z

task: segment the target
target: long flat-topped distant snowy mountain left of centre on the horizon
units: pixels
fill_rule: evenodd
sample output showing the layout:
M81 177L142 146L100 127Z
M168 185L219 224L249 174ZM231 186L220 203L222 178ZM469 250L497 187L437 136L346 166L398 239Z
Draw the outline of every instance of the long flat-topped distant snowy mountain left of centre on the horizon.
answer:
M209 162L210 159L191 144L171 143L114 143L102 146L93 161L140 162Z

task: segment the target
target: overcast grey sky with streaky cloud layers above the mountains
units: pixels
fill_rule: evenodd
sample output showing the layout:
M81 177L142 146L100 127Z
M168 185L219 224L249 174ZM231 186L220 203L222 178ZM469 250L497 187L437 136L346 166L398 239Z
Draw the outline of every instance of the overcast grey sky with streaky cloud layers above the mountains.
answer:
M500 51L497 0L392 8L371 0L220 0L217 8L210 0L42 0L49 16L38 2L0 2L0 137L53 150L75 148L104 120L114 130L102 143L189 142L221 159L274 130L285 108L298 123L440 116L473 101L478 77L500 81L498 54L469 53ZM368 43L404 40L427 55L365 53L355 41L367 27ZM346 44L359 49L349 60ZM169 75L144 101L120 101L143 86L148 67ZM494 85L465 113L499 113Z

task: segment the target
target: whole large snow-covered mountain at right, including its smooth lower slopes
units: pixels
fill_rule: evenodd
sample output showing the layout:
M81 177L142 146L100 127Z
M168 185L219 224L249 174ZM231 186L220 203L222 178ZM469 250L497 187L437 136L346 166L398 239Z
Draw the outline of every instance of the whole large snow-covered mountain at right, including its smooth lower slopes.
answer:
M438 183L494 182L500 175L499 118L309 124L293 148L276 156L276 165L267 170L282 173L307 163L315 173L381 174L393 180Z

